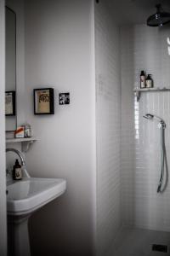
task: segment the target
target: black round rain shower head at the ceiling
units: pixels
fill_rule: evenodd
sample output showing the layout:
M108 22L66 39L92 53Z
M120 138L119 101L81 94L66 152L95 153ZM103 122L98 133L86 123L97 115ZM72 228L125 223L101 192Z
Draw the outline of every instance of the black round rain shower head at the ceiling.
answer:
M161 9L161 4L156 4L156 14L147 19L147 26L163 26L170 22L170 14Z

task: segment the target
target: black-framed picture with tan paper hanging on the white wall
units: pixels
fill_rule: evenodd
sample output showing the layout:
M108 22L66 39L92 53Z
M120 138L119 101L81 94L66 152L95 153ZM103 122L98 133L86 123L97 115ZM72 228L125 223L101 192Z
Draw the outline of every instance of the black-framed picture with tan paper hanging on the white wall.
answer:
M54 113L54 89L34 89L34 114Z

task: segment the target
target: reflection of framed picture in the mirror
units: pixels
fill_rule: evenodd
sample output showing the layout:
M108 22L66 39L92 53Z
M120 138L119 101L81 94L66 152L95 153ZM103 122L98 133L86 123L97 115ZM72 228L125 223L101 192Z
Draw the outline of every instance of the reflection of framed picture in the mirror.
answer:
M5 115L15 115L15 90L5 91Z

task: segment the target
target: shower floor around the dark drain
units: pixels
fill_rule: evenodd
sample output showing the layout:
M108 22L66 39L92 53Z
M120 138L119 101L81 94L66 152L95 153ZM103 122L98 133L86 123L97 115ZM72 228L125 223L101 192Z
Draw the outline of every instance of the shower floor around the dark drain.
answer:
M167 245L169 251L152 251L152 244ZM123 228L107 256L170 256L170 232Z

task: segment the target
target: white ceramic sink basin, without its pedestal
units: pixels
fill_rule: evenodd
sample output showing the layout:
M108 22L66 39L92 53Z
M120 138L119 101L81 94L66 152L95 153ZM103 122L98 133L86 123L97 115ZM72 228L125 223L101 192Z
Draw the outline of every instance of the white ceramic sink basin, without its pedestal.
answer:
M66 182L61 178L28 177L7 185L8 215L26 215L62 195Z

